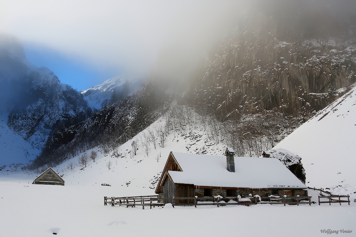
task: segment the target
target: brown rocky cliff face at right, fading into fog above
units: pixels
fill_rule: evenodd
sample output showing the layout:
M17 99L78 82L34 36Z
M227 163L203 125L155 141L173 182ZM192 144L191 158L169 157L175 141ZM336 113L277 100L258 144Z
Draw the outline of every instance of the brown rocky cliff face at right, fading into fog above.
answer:
M286 42L285 31L273 17L245 22L206 57L181 100L227 113L278 108L297 115L322 109L355 82L351 41L288 37Z

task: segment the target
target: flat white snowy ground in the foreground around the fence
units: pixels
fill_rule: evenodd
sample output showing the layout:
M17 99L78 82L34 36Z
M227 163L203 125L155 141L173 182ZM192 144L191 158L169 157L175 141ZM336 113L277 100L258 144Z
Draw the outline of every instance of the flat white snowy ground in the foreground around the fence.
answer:
M98 184L32 185L25 175L0 182L0 236L319 236L353 230L356 205L198 206L142 210L103 205L103 196L144 189ZM68 181L73 180L66 180ZM28 184L30 183L30 184Z

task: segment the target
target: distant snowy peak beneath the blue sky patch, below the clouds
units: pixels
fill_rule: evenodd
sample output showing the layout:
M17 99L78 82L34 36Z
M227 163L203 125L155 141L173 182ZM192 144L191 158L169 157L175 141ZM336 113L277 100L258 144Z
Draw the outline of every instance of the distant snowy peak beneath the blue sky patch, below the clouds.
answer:
M82 93L84 99L88 101L88 105L91 108L101 109L102 107L107 106L110 100L120 99L122 95L137 90L138 86L137 79L133 79L126 75L120 75L106 80L100 85L93 86L87 90L82 90L80 93Z

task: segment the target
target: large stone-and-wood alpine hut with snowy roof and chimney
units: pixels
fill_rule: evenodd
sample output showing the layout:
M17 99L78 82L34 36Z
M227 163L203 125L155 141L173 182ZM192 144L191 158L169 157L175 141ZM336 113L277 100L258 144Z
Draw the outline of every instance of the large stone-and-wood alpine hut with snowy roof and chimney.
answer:
M307 196L307 186L277 158L169 153L156 194L161 197ZM180 201L181 202L181 201Z

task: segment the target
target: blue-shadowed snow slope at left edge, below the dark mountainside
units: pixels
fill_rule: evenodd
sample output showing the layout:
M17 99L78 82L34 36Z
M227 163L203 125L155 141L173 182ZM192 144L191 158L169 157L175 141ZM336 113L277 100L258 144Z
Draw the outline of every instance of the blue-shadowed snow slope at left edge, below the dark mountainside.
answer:
M27 164L34 160L40 151L7 127L7 114L7 112L0 112L0 167ZM17 168L20 170L20 167Z

